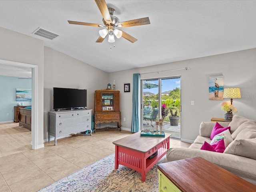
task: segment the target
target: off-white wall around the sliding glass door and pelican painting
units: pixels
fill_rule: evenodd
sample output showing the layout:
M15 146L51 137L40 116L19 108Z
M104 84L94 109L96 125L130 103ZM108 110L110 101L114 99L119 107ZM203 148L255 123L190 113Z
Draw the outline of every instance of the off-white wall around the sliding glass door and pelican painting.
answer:
M224 118L225 112L221 110L220 103L230 99L209 100L209 76L223 75L224 88L239 87L242 98L233 100L233 105L238 109L237 114L256 120L256 49L250 49L110 73L109 82L115 79L116 89L121 93L122 127L131 128L133 73L141 74L185 67L190 69L141 75L141 79L181 75L182 140L194 140L199 134L199 125L202 121L210 121L212 117ZM124 92L124 83L131 84L130 93ZM194 100L194 106L190 105L191 100ZM123 118L126 118L125 122Z

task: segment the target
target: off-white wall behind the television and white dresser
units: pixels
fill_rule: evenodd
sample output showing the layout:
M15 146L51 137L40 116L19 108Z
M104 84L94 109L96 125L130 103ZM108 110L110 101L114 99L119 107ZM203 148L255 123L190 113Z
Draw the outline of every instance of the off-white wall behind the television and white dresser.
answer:
M52 111L52 88L87 90L87 108L94 114L94 92L106 89L108 73L52 48L44 47L44 139L48 138L48 112Z

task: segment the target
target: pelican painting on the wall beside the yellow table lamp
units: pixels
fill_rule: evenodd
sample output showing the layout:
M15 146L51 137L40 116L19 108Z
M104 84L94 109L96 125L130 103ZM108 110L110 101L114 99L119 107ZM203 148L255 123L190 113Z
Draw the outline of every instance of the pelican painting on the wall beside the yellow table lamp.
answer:
M209 77L209 100L223 100L223 76Z

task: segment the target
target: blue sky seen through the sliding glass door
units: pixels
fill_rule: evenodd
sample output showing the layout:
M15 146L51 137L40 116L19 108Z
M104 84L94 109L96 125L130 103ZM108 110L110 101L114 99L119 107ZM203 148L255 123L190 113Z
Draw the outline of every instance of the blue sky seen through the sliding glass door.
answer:
M150 82L158 84L158 80L150 80ZM162 92L174 90L176 87L180 88L180 78L162 79ZM151 89L143 89L143 92L151 92L157 94L158 87Z

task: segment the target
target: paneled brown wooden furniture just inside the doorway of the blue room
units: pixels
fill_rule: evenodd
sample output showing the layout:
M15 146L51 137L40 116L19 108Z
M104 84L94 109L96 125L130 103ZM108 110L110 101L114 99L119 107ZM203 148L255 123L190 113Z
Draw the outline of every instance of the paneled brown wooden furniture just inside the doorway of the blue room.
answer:
M31 131L31 107L20 108L18 118L19 126L24 126Z

